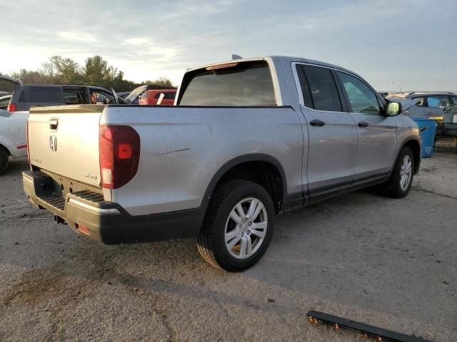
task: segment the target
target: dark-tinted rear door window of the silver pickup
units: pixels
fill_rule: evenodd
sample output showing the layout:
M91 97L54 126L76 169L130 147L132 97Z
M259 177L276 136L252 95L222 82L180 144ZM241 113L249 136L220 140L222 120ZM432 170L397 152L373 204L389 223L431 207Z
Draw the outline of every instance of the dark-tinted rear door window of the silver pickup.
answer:
M331 112L341 112L341 100L338 95L335 80L330 69L318 66L303 66L306 80L311 92L313 108Z

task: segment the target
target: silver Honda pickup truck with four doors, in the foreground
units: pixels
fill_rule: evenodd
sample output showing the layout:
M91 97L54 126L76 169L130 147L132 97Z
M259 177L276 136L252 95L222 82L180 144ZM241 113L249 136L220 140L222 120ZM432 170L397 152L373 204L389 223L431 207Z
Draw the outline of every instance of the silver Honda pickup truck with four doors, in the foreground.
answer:
M273 217L377 186L408 194L417 125L356 73L304 58L187 71L175 106L34 108L30 201L105 244L197 237L228 271L260 259Z

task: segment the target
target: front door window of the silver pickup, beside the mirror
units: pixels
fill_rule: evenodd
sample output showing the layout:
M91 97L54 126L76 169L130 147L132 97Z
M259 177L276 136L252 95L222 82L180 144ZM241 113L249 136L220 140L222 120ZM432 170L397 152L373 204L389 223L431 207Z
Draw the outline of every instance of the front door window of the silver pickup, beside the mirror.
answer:
M337 71L336 73L338 73L344 90L346 90L352 113L368 115L379 115L381 113L378 98L373 90L368 88L361 80L348 73L342 73L341 71Z

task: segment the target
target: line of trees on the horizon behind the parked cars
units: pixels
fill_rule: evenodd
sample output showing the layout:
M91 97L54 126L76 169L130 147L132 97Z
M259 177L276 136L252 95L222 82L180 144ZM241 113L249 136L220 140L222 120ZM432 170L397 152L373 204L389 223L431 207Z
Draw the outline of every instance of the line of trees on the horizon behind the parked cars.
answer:
M86 58L84 66L71 58L53 56L38 70L21 69L11 76L18 78L24 84L73 84L108 89L112 87L119 92L133 90L142 84L158 89L176 88L168 78L164 77L141 83L126 80L123 71L109 66L101 56Z

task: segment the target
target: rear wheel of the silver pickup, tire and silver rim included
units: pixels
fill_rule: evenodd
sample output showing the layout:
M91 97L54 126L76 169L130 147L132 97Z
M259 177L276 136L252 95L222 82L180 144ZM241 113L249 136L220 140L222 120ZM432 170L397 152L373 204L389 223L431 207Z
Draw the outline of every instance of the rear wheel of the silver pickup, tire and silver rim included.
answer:
M247 180L225 182L211 199L197 249L217 268L248 269L271 242L273 217L273 201L261 185Z

